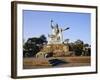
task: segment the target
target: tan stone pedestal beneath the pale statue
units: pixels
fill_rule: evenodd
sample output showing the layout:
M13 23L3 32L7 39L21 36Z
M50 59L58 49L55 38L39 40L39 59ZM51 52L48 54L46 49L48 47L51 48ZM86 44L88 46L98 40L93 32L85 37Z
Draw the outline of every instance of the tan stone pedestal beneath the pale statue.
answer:
M36 56L46 57L52 54L52 57L61 57L69 55L69 46L64 44L48 44L43 47L43 49L36 54Z

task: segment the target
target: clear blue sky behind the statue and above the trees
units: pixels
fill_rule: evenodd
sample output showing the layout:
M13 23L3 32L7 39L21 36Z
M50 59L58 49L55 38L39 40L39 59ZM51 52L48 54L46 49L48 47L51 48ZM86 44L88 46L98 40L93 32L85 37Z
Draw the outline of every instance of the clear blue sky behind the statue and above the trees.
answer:
M69 30L63 32L64 39L70 39L70 42L80 39L90 44L90 13L23 10L23 38L27 40L42 34L48 37L52 30L51 19L61 28L70 27Z

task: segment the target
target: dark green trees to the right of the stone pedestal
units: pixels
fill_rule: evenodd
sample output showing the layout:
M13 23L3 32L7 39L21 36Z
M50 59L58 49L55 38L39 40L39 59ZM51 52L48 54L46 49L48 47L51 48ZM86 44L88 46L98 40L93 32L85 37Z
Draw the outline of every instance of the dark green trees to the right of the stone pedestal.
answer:
M77 40L74 43L69 43L69 50L74 51L76 56L81 56L81 55L90 56L91 55L90 45L84 44L82 40Z

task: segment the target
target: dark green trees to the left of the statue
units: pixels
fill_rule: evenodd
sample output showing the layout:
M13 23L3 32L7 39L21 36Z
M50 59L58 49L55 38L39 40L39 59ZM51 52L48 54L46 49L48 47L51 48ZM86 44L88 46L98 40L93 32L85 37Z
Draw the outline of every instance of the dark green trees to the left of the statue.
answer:
M35 56L47 43L45 35L41 35L39 38L33 37L28 38L28 40L23 45L23 56L24 57L33 57Z

